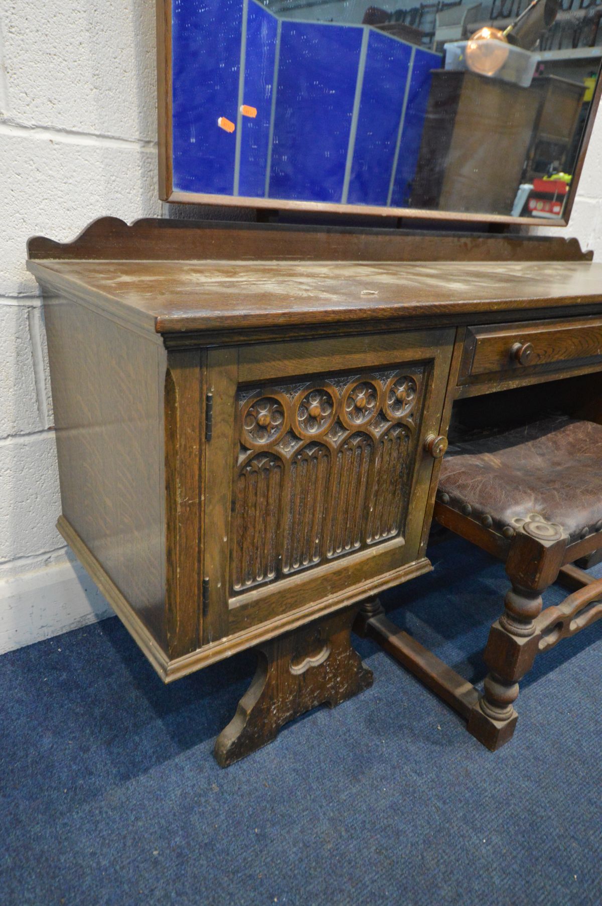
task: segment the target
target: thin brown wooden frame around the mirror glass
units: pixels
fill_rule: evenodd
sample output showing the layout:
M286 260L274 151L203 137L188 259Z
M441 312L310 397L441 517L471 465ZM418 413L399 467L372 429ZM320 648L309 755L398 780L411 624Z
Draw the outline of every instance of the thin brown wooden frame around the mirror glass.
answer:
M321 201L292 201L286 198L249 198L239 195L214 195L201 192L182 192L173 187L172 145L172 0L156 0L157 11L157 126L158 126L158 195L169 204L223 205L253 207L269 210L304 211L314 214L339 214L361 217L399 217L425 221L452 221L514 226L568 226L577 195L581 171L588 152L597 109L602 96L602 60L598 65L596 89L588 113L586 128L579 142L577 164L562 217L511 217L507 214L479 214L462 211L434 211L420 207L385 207L382 205L335 204Z

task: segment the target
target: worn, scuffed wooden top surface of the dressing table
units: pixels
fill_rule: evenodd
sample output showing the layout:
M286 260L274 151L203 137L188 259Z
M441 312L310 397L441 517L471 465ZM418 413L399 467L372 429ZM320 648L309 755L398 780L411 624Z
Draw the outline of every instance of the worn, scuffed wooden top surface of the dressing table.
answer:
M589 261L44 260L27 266L59 294L164 334L602 310L602 265Z

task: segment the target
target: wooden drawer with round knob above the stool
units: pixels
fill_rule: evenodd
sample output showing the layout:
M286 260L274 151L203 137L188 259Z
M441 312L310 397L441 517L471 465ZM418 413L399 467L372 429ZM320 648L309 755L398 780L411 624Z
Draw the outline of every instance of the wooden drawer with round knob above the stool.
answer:
M459 383L484 376L519 377L602 361L602 318L469 327Z

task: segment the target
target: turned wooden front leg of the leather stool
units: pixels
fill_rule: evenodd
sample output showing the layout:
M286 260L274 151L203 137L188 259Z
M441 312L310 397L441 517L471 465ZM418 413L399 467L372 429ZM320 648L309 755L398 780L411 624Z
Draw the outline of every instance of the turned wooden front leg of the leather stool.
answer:
M529 672L539 651L535 620L543 605L541 593L555 582L567 541L559 525L534 516L517 529L512 541L506 562L512 587L483 654L490 670L483 696L468 718L469 732L492 751L514 733L518 715L513 705L519 695L519 680Z

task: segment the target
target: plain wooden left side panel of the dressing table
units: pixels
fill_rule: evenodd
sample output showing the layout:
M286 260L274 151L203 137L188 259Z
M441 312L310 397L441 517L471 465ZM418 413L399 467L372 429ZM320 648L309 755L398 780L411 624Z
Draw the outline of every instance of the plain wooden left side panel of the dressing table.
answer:
M62 513L165 649L167 353L66 299L44 318Z

